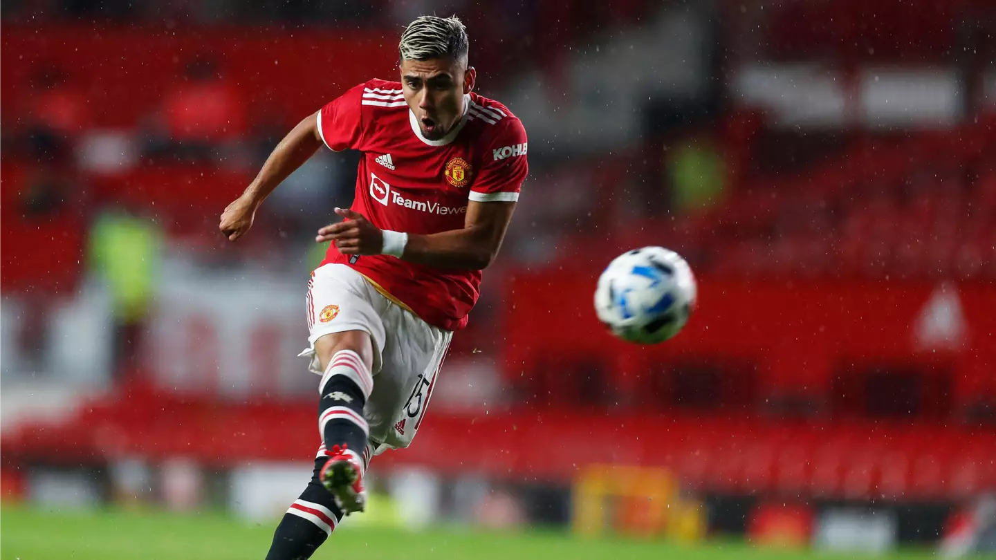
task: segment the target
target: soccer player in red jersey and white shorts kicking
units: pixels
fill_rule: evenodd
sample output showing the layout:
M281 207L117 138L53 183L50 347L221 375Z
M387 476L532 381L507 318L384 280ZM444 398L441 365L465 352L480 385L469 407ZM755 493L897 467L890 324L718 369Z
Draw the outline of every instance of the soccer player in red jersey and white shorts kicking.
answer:
M411 442L527 174L522 123L473 93L459 19L420 17L398 48L400 82L371 80L306 118L221 214L236 241L323 143L363 152L352 207L315 238L332 243L308 283L302 356L322 376L323 442L269 560L310 557L343 515L363 511L371 456Z

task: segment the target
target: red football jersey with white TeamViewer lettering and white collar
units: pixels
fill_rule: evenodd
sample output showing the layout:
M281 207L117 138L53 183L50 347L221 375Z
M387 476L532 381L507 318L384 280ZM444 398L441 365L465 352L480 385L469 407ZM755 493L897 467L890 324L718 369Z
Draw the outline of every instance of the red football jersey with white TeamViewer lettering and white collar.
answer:
M438 233L462 229L468 200L515 201L526 178L526 131L505 106L477 94L441 140L426 140L399 82L371 80L326 105L318 129L335 151L363 152L352 209L380 229ZM479 270L441 270L387 255L343 255L326 263L364 274L426 323L455 331L477 303Z

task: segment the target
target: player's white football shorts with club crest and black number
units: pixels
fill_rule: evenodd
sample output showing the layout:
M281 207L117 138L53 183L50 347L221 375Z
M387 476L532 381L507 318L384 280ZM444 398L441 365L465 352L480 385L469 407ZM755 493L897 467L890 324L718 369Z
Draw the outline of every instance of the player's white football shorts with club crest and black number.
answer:
M377 291L345 264L326 264L308 282L309 369L322 375L315 341L331 333L365 331L373 342L373 393L364 416L373 454L407 447L425 416L451 331L433 327Z

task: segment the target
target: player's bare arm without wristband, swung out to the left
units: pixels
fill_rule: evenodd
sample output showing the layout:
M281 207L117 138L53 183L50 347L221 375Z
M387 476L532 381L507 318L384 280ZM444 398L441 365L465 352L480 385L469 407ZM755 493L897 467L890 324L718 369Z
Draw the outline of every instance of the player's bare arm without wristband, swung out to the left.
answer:
M232 201L221 213L221 223L218 224L221 233L230 241L245 235L252 227L256 209L263 200L321 146L322 137L319 135L316 113L306 117L284 137L284 140L280 140L256 178L249 183L242 195Z

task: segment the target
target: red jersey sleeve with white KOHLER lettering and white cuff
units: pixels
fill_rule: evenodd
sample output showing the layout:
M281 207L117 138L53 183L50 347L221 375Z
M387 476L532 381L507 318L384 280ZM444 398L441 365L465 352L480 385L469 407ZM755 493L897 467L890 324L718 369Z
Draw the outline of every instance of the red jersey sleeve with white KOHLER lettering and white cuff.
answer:
M515 202L522 181L529 173L526 161L526 130L516 119L486 148L481 172L470 187L469 198L476 202Z

